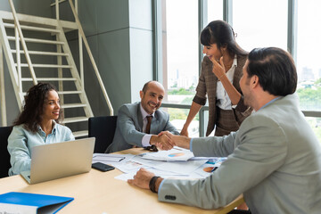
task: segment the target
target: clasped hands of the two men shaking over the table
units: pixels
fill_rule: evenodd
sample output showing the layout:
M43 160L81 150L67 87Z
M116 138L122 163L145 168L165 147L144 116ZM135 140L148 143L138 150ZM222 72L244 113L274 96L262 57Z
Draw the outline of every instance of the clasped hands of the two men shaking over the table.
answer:
M150 144L156 145L161 150L170 150L175 145L189 149L189 142L191 138L186 136L175 136L171 134L169 131L162 131L157 136L152 136L150 140Z

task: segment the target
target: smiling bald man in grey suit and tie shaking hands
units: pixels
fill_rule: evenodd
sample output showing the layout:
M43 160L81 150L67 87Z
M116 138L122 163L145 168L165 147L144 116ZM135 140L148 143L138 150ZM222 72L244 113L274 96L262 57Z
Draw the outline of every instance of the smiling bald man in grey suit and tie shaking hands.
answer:
M169 114L159 110L164 94L161 83L149 81L140 91L141 102L122 105L119 108L115 136L106 152L153 144L161 149L171 149L174 143L169 136L157 136L161 131L179 135L177 128L169 122Z

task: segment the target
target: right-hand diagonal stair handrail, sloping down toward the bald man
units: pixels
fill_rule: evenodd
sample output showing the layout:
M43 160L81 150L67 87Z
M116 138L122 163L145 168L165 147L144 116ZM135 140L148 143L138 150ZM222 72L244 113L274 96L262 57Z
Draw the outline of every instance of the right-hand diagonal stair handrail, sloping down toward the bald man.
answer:
M112 106L111 106L111 101L110 101L110 99L109 99L109 96L107 95L107 92L106 92L105 87L103 86L103 80L102 80L102 78L101 78L101 76L100 76L100 73L99 73L99 71L98 71L97 65L95 64L94 56L93 56L93 54L91 53L91 50L90 50L90 48L89 48L89 45L88 45L88 42L87 42L87 40L86 40L86 36L85 36L84 30L83 30L82 27L81 27L80 21L79 21L79 19L78 19L78 14L77 14L77 12L76 12L76 10L75 10L75 7L74 7L74 5L73 5L73 3L72 3L72 0L69 0L69 3L70 3L71 11L72 11L72 13L73 13L73 15L74 15L74 17L75 17L75 21L76 21L76 23L77 23L77 25L78 25L78 30L79 30L80 35L81 35L81 37L82 37L82 39L83 39L83 42L84 42L84 44L85 44L85 46L86 46L86 51L87 51L87 53L88 53L88 55L89 55L90 62L92 62L92 64L93 64L93 67L94 67L94 70L95 70L95 75L96 75L96 77L97 77L97 79L98 79L99 85L100 85L101 88L102 88L103 96L104 96L104 98L105 98L105 100L106 100L106 103L107 103L108 108L109 108L109 110L110 110L110 114L111 114L111 116L112 116L112 115L113 115L113 108L112 108ZM57 6L57 5L56 5L56 6Z

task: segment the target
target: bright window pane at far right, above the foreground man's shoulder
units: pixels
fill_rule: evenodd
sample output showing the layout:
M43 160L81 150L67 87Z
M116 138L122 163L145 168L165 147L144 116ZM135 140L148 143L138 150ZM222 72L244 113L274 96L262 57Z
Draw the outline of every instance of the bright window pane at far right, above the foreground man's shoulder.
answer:
M298 1L298 94L302 110L321 111L321 1Z

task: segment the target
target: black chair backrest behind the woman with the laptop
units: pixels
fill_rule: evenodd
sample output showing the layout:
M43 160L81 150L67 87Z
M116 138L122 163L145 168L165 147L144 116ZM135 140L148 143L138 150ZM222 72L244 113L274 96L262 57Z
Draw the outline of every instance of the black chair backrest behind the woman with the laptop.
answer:
M11 168L10 154L8 152L8 137L12 132L12 127L0 128L0 178L8 177L8 171Z

